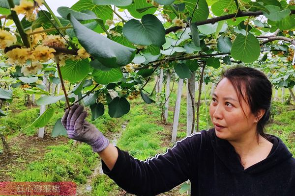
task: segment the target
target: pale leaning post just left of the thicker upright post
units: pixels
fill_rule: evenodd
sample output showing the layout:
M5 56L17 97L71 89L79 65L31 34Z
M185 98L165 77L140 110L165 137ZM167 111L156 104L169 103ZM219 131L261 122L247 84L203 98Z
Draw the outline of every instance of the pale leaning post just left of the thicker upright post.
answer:
M172 139L171 139L171 142L173 142L173 143L176 142L176 137L177 137L177 126L178 126L178 120L179 120L182 86L183 86L183 79L179 78L178 89L177 89L177 98L176 98L174 118L173 118Z

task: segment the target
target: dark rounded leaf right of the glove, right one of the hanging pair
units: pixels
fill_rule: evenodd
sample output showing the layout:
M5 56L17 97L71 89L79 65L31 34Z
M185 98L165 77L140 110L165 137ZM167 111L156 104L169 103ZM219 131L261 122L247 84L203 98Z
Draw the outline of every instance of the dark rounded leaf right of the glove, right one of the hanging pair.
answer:
M109 115L112 118L120 118L130 111L130 104L126 98L116 97L109 103Z

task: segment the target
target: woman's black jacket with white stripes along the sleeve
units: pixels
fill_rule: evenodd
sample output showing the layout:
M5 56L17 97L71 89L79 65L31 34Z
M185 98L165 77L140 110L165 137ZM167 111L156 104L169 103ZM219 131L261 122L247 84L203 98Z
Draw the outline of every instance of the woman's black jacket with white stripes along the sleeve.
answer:
M270 139L267 158L246 170L235 148L214 129L194 133L146 161L117 147L113 170L104 162L102 168L118 186L139 196L169 191L187 179L191 196L295 196L295 159L279 138Z

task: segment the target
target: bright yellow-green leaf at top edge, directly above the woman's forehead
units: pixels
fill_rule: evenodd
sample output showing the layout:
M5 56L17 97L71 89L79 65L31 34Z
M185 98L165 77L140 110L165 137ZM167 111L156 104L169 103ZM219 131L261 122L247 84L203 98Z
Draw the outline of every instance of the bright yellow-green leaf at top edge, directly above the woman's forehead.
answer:
M224 12L224 9L228 9L229 11ZM236 3L234 0L218 0L211 6L211 10L216 16L232 14L236 12Z

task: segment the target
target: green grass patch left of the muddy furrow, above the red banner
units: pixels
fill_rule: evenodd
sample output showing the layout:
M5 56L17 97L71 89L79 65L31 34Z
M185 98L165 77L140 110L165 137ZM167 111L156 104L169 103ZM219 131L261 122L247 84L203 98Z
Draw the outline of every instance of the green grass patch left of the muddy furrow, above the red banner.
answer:
M86 183L87 176L91 174L90 169L97 164L98 155L88 145L74 147L72 143L47 147L49 152L41 161L28 164L25 170L16 169L12 174L14 181Z

